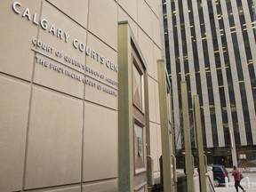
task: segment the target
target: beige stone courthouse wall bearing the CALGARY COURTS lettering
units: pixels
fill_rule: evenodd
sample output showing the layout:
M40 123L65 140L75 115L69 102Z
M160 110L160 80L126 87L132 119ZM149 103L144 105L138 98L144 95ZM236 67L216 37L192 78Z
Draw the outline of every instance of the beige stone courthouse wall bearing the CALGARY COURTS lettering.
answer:
M0 191L130 190L118 164L129 167L132 191L148 191L162 154L158 1L0 4ZM126 76L133 94L119 92ZM126 100L133 117L122 140L118 114Z

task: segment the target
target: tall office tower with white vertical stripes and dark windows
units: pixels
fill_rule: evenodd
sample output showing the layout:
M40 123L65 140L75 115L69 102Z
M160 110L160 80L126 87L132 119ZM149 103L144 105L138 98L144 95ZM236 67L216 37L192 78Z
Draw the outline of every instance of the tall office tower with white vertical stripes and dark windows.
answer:
M183 148L180 81L186 81L192 130L192 98L196 94L200 98L208 163L231 166L239 158L255 161L255 1L163 0L162 4L162 45L172 83L176 148Z

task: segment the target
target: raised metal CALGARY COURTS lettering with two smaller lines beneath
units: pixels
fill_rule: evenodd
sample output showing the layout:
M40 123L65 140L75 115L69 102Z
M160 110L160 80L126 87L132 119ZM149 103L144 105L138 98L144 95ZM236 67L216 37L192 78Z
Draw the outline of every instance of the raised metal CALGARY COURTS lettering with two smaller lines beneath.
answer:
M72 38L67 31L57 28L48 20L44 18L39 19L36 12L31 12L27 7L23 7L19 2L14 2L12 4L12 10L16 14L20 15L24 20L28 20L31 24L40 26L40 28L44 29L46 33L56 36L60 41L72 44L73 48L78 52L84 52L85 56L89 56L100 65L104 65L106 69L111 70L114 73L118 72L117 65L111 60L108 60L105 56L101 55L100 52L93 50L83 42L79 42L78 39ZM74 79L75 81L92 86L99 91L117 96L118 84L116 80L105 76L100 71L86 66L83 62L73 59L72 56L69 56L67 53L56 50L52 45L44 44L44 42L39 39L33 38L31 39L31 43L33 44L32 51L37 52L38 55L42 55L41 57L36 54L36 64L54 70L64 76ZM45 59L45 57L49 58L49 60Z

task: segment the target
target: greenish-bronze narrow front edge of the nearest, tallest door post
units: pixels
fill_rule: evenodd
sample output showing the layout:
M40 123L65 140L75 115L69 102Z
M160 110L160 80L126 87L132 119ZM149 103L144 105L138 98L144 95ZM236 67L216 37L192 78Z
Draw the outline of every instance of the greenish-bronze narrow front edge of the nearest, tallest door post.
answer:
M134 190L132 68L129 26L118 26L118 191Z

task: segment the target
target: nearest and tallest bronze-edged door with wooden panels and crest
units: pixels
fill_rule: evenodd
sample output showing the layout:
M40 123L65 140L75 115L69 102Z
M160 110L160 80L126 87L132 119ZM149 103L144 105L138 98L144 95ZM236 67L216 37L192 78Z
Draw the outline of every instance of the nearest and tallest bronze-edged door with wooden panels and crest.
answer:
M148 191L148 75L127 22L118 27L118 191ZM146 148L146 142L148 148Z

